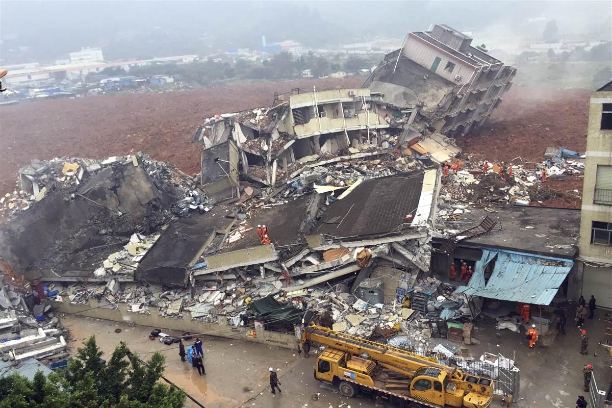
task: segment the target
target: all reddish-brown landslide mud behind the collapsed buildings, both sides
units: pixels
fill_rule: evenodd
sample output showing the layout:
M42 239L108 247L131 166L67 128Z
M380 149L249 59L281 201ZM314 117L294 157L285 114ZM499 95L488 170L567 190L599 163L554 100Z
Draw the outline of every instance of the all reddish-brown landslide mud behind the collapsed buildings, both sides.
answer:
M0 195L15 189L18 168L29 164L32 158L64 155L102 158L145 150L193 175L200 169L201 150L200 145L191 143L191 138L207 117L269 106L274 92L289 92L296 87L310 91L315 85L323 90L361 84L362 78L327 78L2 106ZM487 157L506 163L517 157L523 161L542 161L548 146L584 151L588 97L588 91L539 91L514 86L494 111L493 123L483 125L457 143L465 154L476 159ZM562 182L554 188L582 190L577 182ZM580 200L551 196L544 205L579 208Z

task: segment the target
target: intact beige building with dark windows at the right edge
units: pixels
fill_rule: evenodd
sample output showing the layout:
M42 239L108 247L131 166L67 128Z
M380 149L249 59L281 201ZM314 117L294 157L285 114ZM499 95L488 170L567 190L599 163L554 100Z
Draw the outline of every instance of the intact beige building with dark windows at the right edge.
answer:
M612 81L591 94L578 247L584 298L612 308Z

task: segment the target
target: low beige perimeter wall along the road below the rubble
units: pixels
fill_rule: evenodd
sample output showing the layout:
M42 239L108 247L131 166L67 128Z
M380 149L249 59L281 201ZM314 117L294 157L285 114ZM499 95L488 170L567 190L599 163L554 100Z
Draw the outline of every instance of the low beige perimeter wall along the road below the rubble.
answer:
M119 303L119 309L112 310L101 308L98 301L90 299L89 303L76 305L70 303L67 295L62 296L62 302L45 300L53 310L59 313L78 314L79 316L94 317L114 322L134 322L141 326L152 328L166 328L170 330L181 330L183 332L211 335L224 338L242 339L253 343L267 344L268 346L283 347L285 349L296 349L297 340L293 333L278 333L268 330L258 330L256 338L247 336L245 327L228 325L224 316L218 316L218 323L205 323L192 319L190 311L182 312L182 319L160 316L157 308L151 307L151 314L132 313L127 311L127 303Z

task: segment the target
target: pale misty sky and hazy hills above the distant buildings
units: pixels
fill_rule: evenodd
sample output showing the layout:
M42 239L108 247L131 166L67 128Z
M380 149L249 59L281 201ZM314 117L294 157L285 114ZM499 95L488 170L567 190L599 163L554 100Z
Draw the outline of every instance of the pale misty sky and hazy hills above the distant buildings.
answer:
M480 35L537 39L548 20L564 37L610 39L602 1L0 1L0 59L56 59L102 46L106 59L205 53L294 39L338 45L445 23ZM15 38L16 37L16 38ZM482 39L485 40L485 39ZM26 61L23 61L26 62Z

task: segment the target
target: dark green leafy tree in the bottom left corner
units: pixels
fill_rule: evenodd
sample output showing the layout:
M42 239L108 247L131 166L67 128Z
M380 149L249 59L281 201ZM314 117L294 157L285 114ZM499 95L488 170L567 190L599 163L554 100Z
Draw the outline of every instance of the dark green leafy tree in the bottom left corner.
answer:
M94 336L88 339L69 369L40 371L32 381L19 374L0 378L0 408L181 408L185 392L160 384L165 358L155 353L141 362L121 343L108 364ZM129 357L129 360L126 358Z

